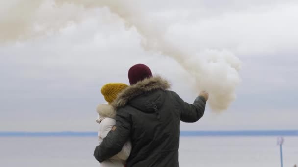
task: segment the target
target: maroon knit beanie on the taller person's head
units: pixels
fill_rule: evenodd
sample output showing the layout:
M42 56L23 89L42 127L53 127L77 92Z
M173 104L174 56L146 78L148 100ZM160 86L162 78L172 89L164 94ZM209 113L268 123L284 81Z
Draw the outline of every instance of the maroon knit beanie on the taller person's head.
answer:
M144 64L136 64L132 66L128 71L128 79L130 85L136 84L145 78L152 77L150 68Z

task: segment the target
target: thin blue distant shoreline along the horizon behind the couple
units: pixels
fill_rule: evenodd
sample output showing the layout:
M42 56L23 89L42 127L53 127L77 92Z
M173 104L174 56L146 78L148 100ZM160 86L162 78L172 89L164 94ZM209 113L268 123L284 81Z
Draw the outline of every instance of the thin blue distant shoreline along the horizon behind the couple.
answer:
M0 131L0 137L92 137L97 132L9 132ZM238 130L238 131L181 131L180 136L298 136L298 130Z

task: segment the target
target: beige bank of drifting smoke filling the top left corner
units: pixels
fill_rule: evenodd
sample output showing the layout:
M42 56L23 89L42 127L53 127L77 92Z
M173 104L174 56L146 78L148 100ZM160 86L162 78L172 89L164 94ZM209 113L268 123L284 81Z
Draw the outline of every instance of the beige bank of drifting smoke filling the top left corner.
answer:
M77 5L59 5L53 0L8 0L0 2L0 43L34 39L80 22L85 10ZM4 5L5 4L5 5Z

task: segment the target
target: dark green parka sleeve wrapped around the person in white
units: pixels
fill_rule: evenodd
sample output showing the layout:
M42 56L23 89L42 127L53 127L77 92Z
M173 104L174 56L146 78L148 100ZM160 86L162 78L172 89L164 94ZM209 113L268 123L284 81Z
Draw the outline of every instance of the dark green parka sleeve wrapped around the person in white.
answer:
M96 146L94 157L99 162L102 162L120 152L125 142L129 139L130 129L131 123L129 114L123 110L117 111L116 125L112 127L101 144Z

